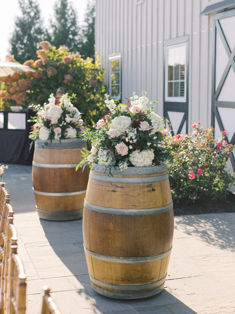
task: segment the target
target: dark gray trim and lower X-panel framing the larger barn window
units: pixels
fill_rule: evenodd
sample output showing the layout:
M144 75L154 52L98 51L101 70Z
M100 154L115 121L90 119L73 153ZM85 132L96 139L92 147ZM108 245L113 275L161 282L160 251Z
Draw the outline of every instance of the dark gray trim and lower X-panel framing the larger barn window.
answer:
M182 42L186 42L186 100L185 101L165 101L165 62L166 62L166 47L169 45L180 44ZM177 133L180 133L184 122L186 123L186 133L188 132L188 107L189 107L189 35L176 37L172 39L168 39L164 41L164 90L163 90L163 115L170 121L169 115L167 111L175 111L175 112L184 112L184 116L180 123L180 126L177 130ZM172 135L174 132L171 131Z

